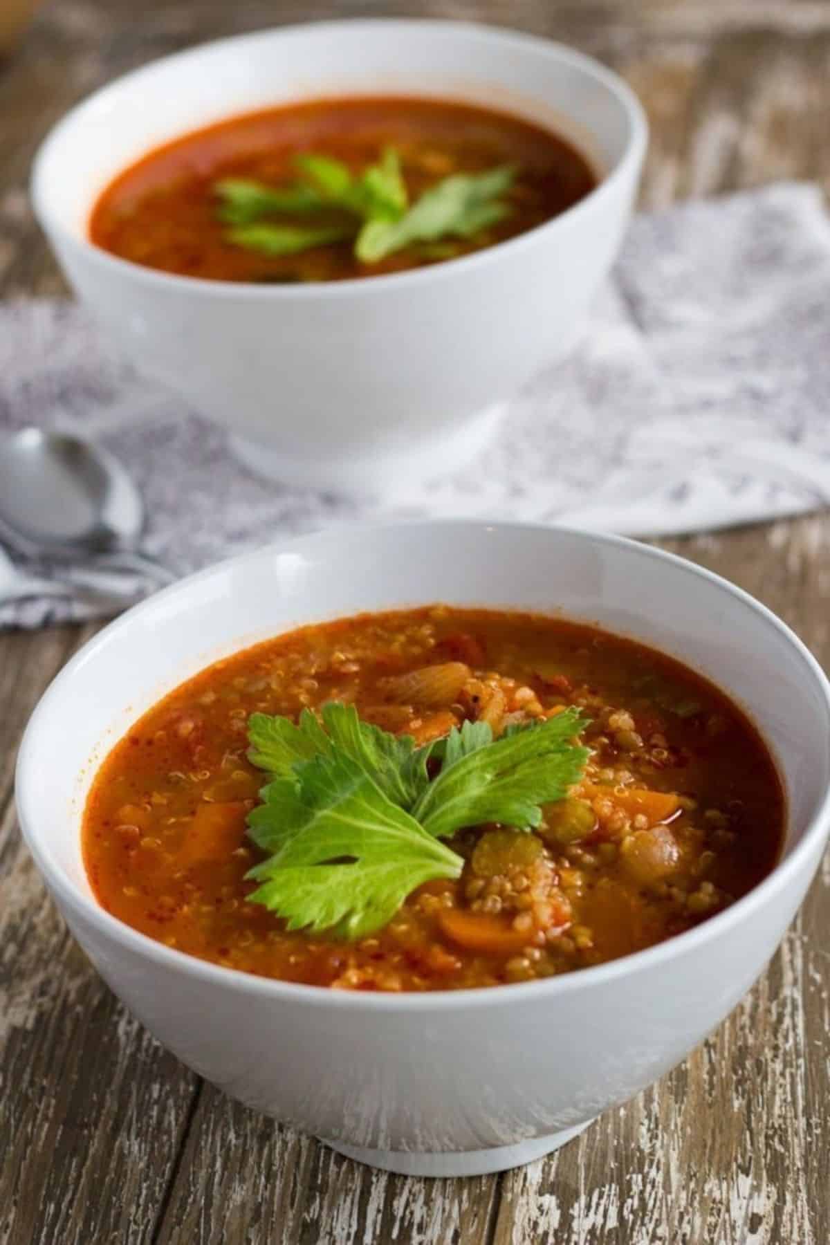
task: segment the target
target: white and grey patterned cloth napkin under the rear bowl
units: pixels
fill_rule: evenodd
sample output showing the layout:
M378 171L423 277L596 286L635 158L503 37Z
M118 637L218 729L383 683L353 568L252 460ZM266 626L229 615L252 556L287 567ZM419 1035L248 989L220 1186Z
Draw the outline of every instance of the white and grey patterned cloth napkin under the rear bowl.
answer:
M383 500L254 478L76 305L0 308L0 435L37 423L98 438L144 493L147 550L182 573L356 519L660 535L795 514L830 502L829 415L830 219L820 190L798 183L637 217L581 345L510 403L495 443ZM92 614L31 600L0 608L0 625Z

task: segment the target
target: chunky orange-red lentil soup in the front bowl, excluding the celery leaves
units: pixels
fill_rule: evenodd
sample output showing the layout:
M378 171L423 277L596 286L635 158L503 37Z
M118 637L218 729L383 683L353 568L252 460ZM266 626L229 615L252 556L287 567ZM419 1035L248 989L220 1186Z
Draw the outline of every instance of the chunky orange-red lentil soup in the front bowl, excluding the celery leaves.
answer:
M250 721L331 702L381 728L388 754L411 737L427 788L453 738L498 748L559 718L587 751L538 824L449 835L444 875L413 873L368 935L290 929L311 920L270 910L246 876L268 855L248 827L265 782ZM103 763L83 853L98 903L168 946L285 981L424 991L550 977L681 934L772 870L783 824L758 732L677 661L581 624L438 605L304 627L177 688ZM317 859L335 876L343 857Z

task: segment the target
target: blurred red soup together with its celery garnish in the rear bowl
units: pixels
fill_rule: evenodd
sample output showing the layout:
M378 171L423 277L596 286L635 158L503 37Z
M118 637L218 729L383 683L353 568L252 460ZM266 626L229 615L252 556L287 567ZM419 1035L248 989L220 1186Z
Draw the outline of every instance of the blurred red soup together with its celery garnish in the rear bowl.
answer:
M505 177L488 181L498 171ZM233 117L151 152L103 190L90 238L182 276L336 281L492 247L596 184L585 156L520 117L413 97L316 100ZM373 243L356 253L367 222ZM391 228L401 223L403 233Z

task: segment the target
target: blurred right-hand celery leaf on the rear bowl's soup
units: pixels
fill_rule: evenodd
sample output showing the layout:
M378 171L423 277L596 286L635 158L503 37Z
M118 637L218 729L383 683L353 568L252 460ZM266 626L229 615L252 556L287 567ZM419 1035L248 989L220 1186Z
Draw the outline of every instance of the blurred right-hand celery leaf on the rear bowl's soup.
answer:
M487 173L453 173L424 190L398 220L368 220L357 235L355 254L361 263L376 264L412 243L470 238L508 214L509 204L497 200L514 177L508 164Z

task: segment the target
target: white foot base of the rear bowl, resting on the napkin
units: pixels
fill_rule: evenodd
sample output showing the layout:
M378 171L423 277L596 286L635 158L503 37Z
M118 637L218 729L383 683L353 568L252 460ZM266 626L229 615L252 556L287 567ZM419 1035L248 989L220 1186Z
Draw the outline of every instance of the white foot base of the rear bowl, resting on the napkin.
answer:
M236 458L255 476L290 488L388 497L464 467L485 448L505 410L504 403L497 403L448 435L424 435L418 446L361 458L295 458L282 449L238 436L230 436L229 444Z

